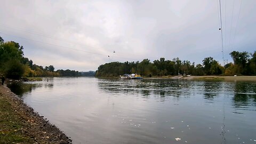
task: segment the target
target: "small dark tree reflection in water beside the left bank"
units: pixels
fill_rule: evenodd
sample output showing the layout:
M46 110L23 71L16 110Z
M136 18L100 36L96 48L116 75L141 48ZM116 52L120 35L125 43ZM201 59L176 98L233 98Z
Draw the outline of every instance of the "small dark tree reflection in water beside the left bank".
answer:
M31 92L32 90L35 90L36 87L42 87L42 84L27 84L27 83L11 83L7 85L11 91L20 97L22 97L23 93Z

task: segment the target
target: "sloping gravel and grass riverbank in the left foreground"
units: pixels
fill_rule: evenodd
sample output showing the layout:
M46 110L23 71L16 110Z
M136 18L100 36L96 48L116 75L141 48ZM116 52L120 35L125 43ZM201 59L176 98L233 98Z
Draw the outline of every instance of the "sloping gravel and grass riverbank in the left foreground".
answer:
M71 143L6 86L0 86L0 143Z

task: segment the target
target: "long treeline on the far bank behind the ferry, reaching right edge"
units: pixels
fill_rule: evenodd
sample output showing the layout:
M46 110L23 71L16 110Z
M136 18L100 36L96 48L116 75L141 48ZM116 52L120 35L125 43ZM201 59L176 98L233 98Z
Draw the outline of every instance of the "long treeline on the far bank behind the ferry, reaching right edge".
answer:
M256 51L230 53L234 62L227 63L221 66L220 63L212 57L204 58L202 64L195 64L188 60L180 60L174 58L172 60L165 60L160 58L150 62L144 59L141 62L110 62L100 65L96 71L97 77L117 77L122 74L137 73L143 77L151 76L167 76L167 75L219 75L219 76L234 76L234 75L256 75Z

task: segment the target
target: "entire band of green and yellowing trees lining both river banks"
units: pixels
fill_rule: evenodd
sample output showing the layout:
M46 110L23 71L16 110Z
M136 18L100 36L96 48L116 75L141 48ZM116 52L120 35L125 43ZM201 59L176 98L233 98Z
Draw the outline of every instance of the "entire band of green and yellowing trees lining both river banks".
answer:
M256 51L253 54L248 52L233 51L230 53L233 63L228 63L222 67L218 61L212 57L204 58L203 65L195 65L193 62L179 58L165 60L160 58L153 63L149 59L141 62L110 62L100 65L95 72L98 77L117 77L123 74L137 73L142 76L166 76L178 74L190 75L256 75ZM250 59L251 58L251 59ZM0 73L4 73L10 78L34 77L34 76L84 76L87 73L79 73L75 70L54 71L52 65L38 66L32 60L23 57L23 46L19 43L4 42L0 37ZM94 73L89 74L94 75Z

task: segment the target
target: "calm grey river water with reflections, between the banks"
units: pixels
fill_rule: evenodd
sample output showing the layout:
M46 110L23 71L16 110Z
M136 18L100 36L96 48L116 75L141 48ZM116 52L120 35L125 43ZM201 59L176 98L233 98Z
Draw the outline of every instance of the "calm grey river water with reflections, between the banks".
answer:
M10 87L74 143L256 143L256 82L52 77Z

